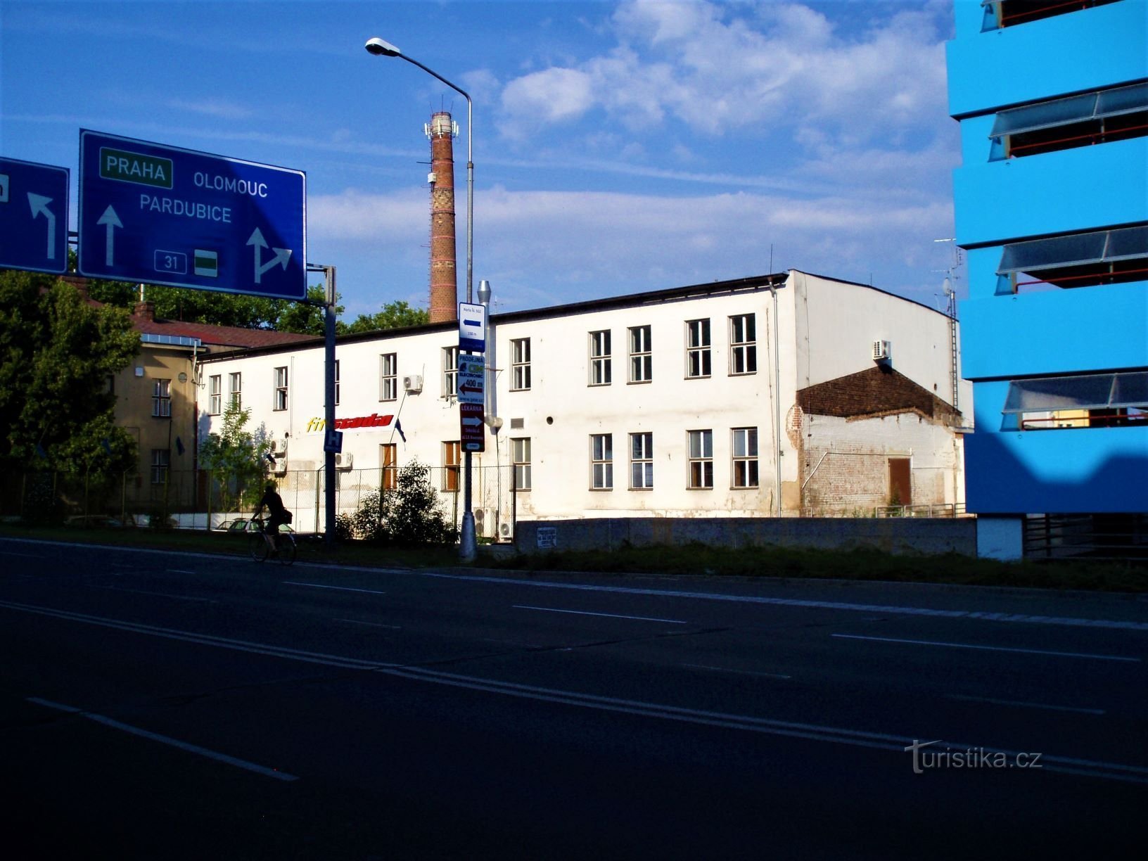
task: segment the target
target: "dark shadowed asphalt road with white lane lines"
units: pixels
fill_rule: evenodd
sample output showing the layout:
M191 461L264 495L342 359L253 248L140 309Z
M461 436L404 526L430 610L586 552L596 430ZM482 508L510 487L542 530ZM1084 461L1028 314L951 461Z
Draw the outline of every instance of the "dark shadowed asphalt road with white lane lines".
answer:
M1143 599L0 538L0 650L5 858L1142 844Z

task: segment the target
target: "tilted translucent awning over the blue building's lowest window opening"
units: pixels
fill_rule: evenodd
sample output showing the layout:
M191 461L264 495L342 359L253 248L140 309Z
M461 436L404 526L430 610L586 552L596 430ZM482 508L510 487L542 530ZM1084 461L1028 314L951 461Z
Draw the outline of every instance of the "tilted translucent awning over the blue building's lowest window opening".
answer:
M1003 413L1148 409L1148 371L1013 380Z

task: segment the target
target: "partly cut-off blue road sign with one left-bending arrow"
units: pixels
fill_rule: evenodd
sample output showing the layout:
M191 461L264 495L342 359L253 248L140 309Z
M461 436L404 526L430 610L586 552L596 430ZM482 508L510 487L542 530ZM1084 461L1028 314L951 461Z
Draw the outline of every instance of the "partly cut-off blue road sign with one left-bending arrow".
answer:
M68 271L68 169L0 158L0 269Z

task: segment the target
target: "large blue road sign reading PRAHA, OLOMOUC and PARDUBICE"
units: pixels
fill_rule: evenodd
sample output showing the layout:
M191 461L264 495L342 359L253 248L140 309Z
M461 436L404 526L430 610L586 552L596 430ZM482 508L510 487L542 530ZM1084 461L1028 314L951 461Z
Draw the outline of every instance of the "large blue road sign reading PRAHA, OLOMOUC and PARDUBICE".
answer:
M301 300L305 242L302 171L80 130L80 274Z

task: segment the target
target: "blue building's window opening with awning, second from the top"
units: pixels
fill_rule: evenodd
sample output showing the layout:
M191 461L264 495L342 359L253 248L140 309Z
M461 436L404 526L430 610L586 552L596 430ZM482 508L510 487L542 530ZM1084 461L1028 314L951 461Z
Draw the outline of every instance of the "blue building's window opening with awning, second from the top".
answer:
M988 157L1023 158L1146 134L1148 84L1133 84L998 113Z

